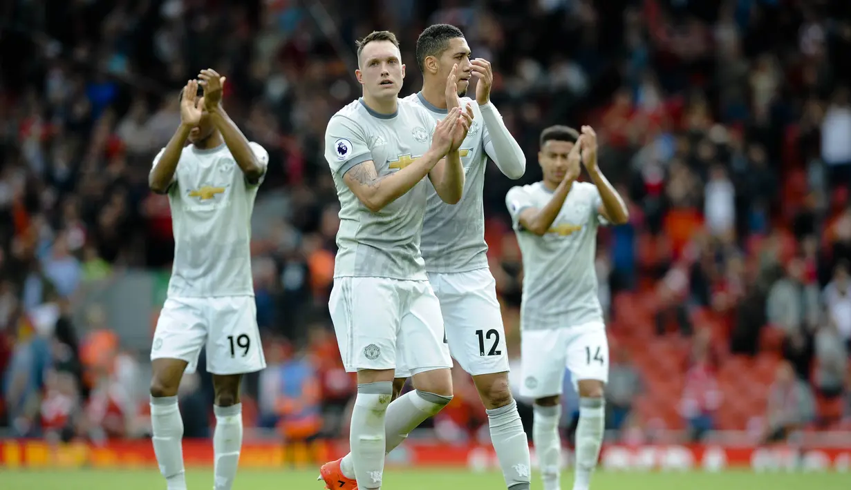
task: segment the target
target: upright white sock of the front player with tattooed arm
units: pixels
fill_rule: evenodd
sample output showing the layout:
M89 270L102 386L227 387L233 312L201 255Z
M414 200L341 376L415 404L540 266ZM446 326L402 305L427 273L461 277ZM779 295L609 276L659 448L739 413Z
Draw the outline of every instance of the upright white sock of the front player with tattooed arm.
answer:
M381 487L384 473L385 418L393 397L392 381L357 386L355 408L351 411L351 447L357 487L372 490Z

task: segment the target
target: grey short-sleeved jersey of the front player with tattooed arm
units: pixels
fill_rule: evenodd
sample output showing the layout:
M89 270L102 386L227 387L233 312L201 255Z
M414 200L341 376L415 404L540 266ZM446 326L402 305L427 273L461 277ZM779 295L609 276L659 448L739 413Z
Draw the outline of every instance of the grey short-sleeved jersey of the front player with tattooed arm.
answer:
M403 99L394 115L379 114L358 99L328 121L325 160L340 198L334 277L426 279L420 234L427 177L384 209L372 212L351 192L343 176L369 160L379 175L398 172L428 151L435 126L427 110Z

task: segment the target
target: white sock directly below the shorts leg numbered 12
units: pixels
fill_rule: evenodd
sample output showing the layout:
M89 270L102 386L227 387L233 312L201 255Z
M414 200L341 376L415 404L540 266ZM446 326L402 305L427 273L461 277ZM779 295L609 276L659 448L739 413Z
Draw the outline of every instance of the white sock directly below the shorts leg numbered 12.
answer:
M496 458L500 460L505 486L509 490L529 490L529 442L517 413L517 402L511 400L505 407L486 411L490 441L494 444Z

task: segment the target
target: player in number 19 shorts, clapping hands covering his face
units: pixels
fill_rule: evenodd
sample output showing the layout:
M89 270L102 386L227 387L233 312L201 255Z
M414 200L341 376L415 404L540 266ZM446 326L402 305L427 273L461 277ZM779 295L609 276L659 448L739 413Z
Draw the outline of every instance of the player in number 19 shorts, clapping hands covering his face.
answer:
M215 391L214 488L231 490L243 443L240 381L266 368L249 243L269 155L222 108L225 77L202 70L198 78L180 94L180 126L148 177L152 191L168 194L174 228L168 299L151 347L151 425L168 490L186 490L177 388L206 345Z

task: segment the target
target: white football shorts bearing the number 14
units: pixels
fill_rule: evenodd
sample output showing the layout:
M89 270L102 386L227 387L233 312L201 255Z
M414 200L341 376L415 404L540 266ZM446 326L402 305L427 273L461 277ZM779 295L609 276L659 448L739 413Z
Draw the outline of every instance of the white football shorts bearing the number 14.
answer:
M577 386L579 380L608 382L608 338L603 322L571 327L523 330L521 362L524 397L542 398L562 394L564 369Z

